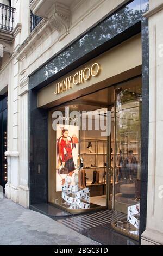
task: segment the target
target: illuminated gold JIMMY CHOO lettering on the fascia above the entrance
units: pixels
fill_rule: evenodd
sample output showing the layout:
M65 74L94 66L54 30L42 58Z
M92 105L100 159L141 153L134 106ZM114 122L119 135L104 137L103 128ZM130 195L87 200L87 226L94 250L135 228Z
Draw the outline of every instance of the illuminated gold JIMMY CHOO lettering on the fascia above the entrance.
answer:
M84 83L89 80L91 77L95 77L99 74L99 64L93 63L93 65L89 68L86 67L84 70L80 70L74 74L74 76L69 76L58 82L55 86L54 94L63 93L66 90L71 89L73 86L77 86L78 84Z

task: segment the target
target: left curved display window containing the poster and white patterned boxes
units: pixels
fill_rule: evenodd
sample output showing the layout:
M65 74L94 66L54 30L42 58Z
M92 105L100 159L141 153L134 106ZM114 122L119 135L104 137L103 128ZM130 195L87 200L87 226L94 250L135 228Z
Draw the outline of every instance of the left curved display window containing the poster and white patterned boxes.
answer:
M70 210L106 206L106 114L107 108L73 103L49 112L49 202Z

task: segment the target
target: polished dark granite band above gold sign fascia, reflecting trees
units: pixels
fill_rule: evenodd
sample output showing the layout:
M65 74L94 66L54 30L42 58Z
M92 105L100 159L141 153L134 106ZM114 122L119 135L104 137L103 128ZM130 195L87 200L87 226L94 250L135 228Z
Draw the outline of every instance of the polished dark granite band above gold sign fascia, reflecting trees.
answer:
M30 77L30 86L33 88L49 77L57 74L66 66L82 58L85 54L95 50L106 41L122 33L130 26L141 21L143 13L148 10L148 0L134 0L117 13L109 16L95 28L74 42L65 51L48 62L43 68Z

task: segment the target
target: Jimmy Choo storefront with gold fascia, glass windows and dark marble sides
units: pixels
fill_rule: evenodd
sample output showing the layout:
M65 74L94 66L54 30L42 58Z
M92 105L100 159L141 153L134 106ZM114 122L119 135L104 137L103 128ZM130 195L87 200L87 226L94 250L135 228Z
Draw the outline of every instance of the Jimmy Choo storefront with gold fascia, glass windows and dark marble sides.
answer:
M30 77L29 173L31 205L71 214L111 209L112 228L138 240L146 223L148 90L144 34L135 28L37 88L39 78Z

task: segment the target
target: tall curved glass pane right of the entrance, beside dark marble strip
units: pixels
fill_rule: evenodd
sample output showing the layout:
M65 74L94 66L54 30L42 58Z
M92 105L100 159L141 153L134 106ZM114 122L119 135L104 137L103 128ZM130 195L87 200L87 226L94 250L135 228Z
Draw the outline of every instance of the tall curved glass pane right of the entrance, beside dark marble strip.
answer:
M115 88L113 199L115 227L139 235L141 80ZM136 80L135 80L136 82Z

